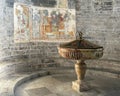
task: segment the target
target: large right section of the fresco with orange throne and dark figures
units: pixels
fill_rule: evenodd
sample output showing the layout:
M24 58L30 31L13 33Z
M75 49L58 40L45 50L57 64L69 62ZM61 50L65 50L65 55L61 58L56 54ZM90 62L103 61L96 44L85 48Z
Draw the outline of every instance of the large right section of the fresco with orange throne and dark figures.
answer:
M75 33L75 10L43 9L42 39L73 38Z

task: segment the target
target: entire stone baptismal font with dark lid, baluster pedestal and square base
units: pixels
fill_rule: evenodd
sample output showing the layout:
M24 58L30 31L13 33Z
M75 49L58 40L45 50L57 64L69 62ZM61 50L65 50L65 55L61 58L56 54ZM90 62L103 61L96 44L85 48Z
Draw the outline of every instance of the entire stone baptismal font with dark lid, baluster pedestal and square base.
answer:
M80 37L78 40L60 44L58 53L66 59L77 60L75 64L77 80L72 82L72 88L77 92L89 90L90 86L84 82L86 73L84 61L101 58L103 56L103 47Z

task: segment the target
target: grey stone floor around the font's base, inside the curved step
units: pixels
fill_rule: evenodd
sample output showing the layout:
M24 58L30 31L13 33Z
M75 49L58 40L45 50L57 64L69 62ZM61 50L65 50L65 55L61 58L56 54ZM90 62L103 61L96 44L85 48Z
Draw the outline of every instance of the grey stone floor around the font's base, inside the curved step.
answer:
M25 82L16 88L16 96L120 96L120 79L107 76L87 75L91 86L86 92L72 90L75 74L53 74Z

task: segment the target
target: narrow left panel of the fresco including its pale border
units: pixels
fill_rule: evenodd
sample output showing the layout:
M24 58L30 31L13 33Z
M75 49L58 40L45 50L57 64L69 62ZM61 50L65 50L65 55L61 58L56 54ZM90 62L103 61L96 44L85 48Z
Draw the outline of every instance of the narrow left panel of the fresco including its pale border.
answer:
M29 40L29 8L15 4L14 9L14 40L27 42Z

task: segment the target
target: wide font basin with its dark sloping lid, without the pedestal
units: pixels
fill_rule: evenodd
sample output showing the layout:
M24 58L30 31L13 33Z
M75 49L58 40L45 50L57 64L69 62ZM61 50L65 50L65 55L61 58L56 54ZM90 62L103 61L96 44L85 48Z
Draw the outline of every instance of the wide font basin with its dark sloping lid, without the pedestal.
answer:
M62 57L67 59L98 59L103 56L103 47L93 44L88 40L80 39L60 44L58 52Z

